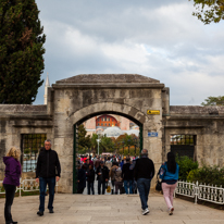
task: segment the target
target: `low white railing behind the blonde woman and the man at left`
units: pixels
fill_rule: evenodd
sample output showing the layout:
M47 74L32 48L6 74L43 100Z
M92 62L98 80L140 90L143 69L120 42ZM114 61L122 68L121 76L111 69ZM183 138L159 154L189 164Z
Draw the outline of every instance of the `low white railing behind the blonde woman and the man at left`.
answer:
M55 184L55 192L58 192L58 182ZM48 186L47 186L48 189ZM39 191L39 183L36 182L35 178L30 179L20 179L20 186L16 187L15 192L20 192L20 197L22 196L22 191L24 192L32 192L32 191ZM0 181L0 194L5 194L3 189L3 181Z

